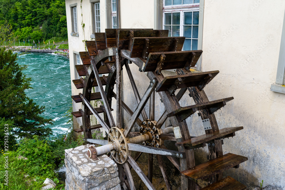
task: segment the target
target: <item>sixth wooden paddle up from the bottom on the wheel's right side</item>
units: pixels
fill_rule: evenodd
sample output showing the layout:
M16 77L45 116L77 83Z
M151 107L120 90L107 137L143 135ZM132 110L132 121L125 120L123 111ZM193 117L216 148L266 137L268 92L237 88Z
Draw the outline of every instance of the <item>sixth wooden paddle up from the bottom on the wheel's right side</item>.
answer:
M195 59L192 62L193 53L195 53ZM155 71L157 64L160 60L160 56L164 54L165 60L162 67L162 70L166 69L178 69L184 68L186 63L190 60L191 67L194 67L202 54L202 50L194 51L170 51L170 52L154 52L148 55L143 71ZM198 58L196 60L196 58Z

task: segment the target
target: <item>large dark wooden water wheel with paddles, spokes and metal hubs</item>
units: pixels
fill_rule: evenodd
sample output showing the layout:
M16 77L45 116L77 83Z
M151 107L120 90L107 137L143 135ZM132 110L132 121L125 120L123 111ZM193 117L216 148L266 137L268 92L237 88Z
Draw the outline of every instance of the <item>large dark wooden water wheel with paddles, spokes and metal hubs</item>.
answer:
M73 80L76 88L83 88L79 95L72 96L76 102L82 102L82 109L73 112L75 117L82 117L82 128L86 142L101 144L94 154L110 152L113 160L118 163L121 185L125 189L135 189L130 168L133 168L148 189L152 185L153 155L158 160L167 189L172 189L165 171L162 156L166 156L181 173L182 190L200 189L196 185L198 179L211 183L204 189L245 189L246 186L231 177L222 179L222 172L246 161L247 158L235 154L223 155L222 144L226 137L235 136L235 131L243 127L220 129L214 112L233 99L209 101L203 88L219 71L192 73L202 51L182 51L184 37L168 37L168 30L152 29L106 29L105 33L95 33L95 41L86 41L88 51L80 52L83 65L76 65L80 76ZM144 72L149 79L144 94L139 94L129 64L135 64L137 72ZM127 102L121 99L121 70L126 69L129 82L138 102L137 108L131 110ZM164 77L162 70L174 69L176 75ZM136 73L136 74L138 74ZM107 76L101 74L108 74ZM144 81L145 83L145 81ZM100 92L92 92L98 86ZM105 90L103 88L105 86ZM114 89L114 87L116 89ZM121 89L122 88L122 89ZM177 90L177 92L176 92ZM195 104L181 107L180 98L184 93L193 98ZM154 117L155 96L159 96L165 107L164 113ZM113 99L112 99L113 98ZM93 108L91 100L102 99L104 106ZM145 105L150 99L149 113ZM111 113L111 103L116 102L116 121ZM114 105L114 104L113 104ZM122 108L130 115L127 124L122 126ZM201 117L205 134L191 137L185 119L194 112ZM99 113L104 113L104 118ZM90 115L99 121L98 125L90 125ZM142 115L142 120L139 116ZM167 118L171 127L162 128ZM135 123L139 131L133 132ZM92 139L91 130L103 127L107 132L107 140ZM177 150L164 145L165 141L176 141ZM195 166L195 148L208 146L209 161ZM131 156L135 151L135 156ZM148 177L142 172L136 161L141 154L148 154ZM89 154L91 157L91 154ZM134 154L133 154L134 155ZM95 155L96 156L96 155Z

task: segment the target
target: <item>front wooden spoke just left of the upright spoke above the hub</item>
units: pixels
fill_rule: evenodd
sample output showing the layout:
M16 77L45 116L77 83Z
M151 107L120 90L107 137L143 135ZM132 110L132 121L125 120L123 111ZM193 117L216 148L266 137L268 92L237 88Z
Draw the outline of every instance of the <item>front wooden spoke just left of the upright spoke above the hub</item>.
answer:
M97 67L96 67L96 64L95 64L94 60L91 60L91 65L93 67L93 71L94 71L94 74L95 74L96 82L98 84L98 88L99 88L99 91L100 91L100 94L101 94L101 97L102 97L102 100L103 100L103 104L104 104L105 111L106 111L107 116L108 116L109 123L110 123L111 127L115 127L116 126L115 125L115 121L114 121L113 115L111 113L111 109L110 109L110 106L108 104L107 97L106 97L105 91L103 89L103 85L102 85L101 79L99 77L99 73L98 73L98 70L97 70Z

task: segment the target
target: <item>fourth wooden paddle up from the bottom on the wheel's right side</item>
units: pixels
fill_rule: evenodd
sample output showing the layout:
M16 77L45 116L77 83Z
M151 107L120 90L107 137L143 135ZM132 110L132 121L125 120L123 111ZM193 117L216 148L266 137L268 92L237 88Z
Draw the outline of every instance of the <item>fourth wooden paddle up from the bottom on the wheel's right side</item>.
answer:
M171 116L179 116L180 120L184 120L187 117L189 117L190 115L192 115L195 111L198 110L208 110L209 113L214 113L215 111L217 111L218 109L220 109L221 107L226 105L226 102L233 100L233 97L230 98L224 98L224 99L220 99L220 100L214 100L211 102L205 102L202 104L195 104L192 106L187 106L187 107L181 107L171 113L168 113L167 116L171 117ZM207 129L205 129L207 130Z

